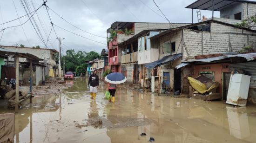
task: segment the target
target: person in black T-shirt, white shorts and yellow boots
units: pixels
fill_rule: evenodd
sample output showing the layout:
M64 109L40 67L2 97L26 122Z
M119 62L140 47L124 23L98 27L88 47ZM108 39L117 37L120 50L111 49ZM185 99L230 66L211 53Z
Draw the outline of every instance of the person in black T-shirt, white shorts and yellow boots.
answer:
M90 85L91 99L96 99L97 88L99 86L99 77L97 76L97 71L94 71L88 80L88 85Z

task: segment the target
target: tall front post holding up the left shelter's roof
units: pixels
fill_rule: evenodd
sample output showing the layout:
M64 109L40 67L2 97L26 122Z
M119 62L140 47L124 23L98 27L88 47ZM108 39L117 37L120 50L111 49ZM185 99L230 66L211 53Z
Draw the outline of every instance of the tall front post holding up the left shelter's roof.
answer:
M15 113L18 113L18 110L19 110L19 55L15 56L15 78L16 78Z

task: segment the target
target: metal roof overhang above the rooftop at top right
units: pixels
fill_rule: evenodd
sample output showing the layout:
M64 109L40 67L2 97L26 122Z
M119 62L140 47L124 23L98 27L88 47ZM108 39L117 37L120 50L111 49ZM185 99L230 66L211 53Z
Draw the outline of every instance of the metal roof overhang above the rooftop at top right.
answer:
M212 5L214 5L213 6L214 11L221 11L225 7L229 7L234 4L243 3L243 2L256 4L256 1L249 1L249 0L196 0L186 8L212 10L213 9Z

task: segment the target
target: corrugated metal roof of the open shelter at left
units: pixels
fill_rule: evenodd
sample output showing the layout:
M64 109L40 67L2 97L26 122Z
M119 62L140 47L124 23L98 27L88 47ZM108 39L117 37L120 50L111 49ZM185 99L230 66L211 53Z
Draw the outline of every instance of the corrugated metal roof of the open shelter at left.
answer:
M40 60L40 58L38 58L37 56L30 54L30 53L26 53L26 52L17 52L15 50L10 50L10 49L4 49L4 48L0 48L0 52L1 54L10 54L10 55L16 55L18 54L20 58L29 58L29 59L36 59L36 60Z

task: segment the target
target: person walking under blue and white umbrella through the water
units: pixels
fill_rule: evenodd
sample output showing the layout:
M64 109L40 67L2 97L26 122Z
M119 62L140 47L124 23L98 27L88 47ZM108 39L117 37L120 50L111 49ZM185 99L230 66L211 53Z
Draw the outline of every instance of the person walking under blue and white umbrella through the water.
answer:
M110 92L110 95L112 97L110 101L112 101L113 103L115 103L116 84L122 84L126 82L126 80L126 77L119 72L110 73L105 77L105 81L108 82L108 91Z

